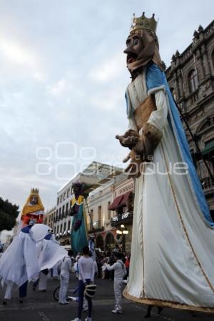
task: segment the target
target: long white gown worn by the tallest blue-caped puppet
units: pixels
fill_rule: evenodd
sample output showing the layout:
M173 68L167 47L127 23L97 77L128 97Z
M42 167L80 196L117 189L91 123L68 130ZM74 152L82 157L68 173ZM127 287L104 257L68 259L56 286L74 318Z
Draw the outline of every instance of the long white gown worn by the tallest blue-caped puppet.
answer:
M188 175L175 173L175 164L183 161L167 119L168 97L164 88L146 92L145 71L127 92L133 109L155 94L157 111L148 122L163 131L163 138L146 175L136 180L124 295L137 302L214 312L214 230L205 223ZM129 128L136 129L133 117Z

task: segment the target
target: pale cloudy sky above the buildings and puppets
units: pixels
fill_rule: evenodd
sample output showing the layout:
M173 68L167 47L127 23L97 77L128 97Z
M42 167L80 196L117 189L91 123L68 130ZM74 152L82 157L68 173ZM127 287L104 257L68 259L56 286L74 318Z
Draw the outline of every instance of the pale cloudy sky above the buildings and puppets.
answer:
M20 206L39 188L47 208L91 161L120 165L127 127L123 54L133 13L156 14L166 66L213 1L0 0L0 195Z

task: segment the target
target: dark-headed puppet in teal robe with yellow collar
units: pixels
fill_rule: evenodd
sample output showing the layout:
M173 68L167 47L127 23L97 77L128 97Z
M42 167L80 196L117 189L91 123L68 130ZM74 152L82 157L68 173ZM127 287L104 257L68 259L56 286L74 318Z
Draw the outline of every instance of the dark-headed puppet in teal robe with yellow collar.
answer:
M73 216L71 225L71 248L74 253L81 252L83 247L88 245L86 213L84 209L83 183L73 183L74 197L71 199L71 216Z

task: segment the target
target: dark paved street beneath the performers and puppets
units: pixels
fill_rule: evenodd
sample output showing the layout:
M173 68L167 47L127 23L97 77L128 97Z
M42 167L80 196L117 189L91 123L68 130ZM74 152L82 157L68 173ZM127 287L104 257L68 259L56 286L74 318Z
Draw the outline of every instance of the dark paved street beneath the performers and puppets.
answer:
M214 315L196 312L195 316L190 312L181 310L164 309L158 315L154 308L151 318L144 319L146 306L123 299L123 314L113 315L113 282L111 280L97 279L98 290L95 300L93 300L93 321L211 321ZM59 285L57 280L48 281L47 292L34 292L29 285L29 295L23 304L19 303L18 291L13 292L11 302L8 305L0 305L1 321L70 321L76 317L77 302L71 301L69 305L58 305L53 299L54 289ZM70 288L76 287L74 276L71 277ZM72 295L72 294L71 294ZM3 290L0 292L1 302L3 300ZM84 318L83 318L84 317ZM83 312L82 320L85 320L86 312Z

